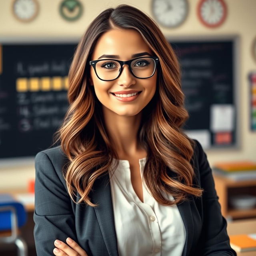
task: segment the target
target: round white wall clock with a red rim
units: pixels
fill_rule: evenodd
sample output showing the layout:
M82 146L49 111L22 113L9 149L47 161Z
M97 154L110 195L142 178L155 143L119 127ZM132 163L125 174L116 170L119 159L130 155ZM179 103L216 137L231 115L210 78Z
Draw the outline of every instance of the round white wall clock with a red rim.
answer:
M216 28L226 19L227 6L224 0L201 0L197 12L202 24Z

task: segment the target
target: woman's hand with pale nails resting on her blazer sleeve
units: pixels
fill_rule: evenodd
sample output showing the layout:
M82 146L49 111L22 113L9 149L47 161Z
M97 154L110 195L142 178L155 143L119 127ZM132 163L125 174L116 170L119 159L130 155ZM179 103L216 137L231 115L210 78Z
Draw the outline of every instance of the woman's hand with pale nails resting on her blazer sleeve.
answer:
M56 256L88 256L85 250L83 250L78 243L76 243L71 238L66 239L66 243L55 240L54 246L57 248L54 248L53 253Z

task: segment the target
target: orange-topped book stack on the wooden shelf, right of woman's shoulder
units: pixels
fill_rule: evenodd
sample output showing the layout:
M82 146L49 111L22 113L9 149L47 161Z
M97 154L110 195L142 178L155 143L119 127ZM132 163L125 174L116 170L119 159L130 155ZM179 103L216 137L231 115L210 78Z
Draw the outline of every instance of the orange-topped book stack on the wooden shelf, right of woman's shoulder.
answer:
M235 181L252 180L256 179L256 162L219 162L214 164L212 172Z

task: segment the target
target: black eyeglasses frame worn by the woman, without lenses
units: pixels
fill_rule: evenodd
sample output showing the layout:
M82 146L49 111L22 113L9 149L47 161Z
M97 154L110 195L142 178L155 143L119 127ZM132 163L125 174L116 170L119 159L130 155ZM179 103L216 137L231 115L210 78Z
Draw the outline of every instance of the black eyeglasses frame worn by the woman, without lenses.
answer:
M142 56L142 57L137 57L137 58L134 58L134 59L131 59L131 60L127 60L127 61L115 60L115 59L90 60L89 65L91 65L91 66L93 67L96 76L97 76L100 80L102 80L102 81L113 81L113 80L116 80L116 79L122 74L122 71L123 71L123 69L124 69L124 67L123 67L124 64L127 64L127 65L128 65L129 70L130 70L131 74L132 74L134 77L139 78L139 79L150 78L151 76L144 77L144 78L140 78L140 77L138 77L138 76L135 76L135 75L133 74L133 72L132 72L132 68L131 68L131 63L132 63L132 61L137 60L137 59L141 59L141 58L152 58L152 59L154 60L154 62L155 62L155 69L154 69L153 74L151 75L151 76L154 76L154 74L155 74L155 72L156 72L157 64L158 64L158 62L159 62L159 58L158 58L157 56ZM97 74L97 72L96 72L96 64L97 64L97 62L102 61L102 60L114 60L114 61L116 61L116 62L118 62L118 63L120 64L120 66L121 66L121 67L120 67L120 71L119 71L119 74L118 74L118 76L117 76L116 78L111 79L111 80L104 80L104 79L101 79L101 78L98 76L98 74Z

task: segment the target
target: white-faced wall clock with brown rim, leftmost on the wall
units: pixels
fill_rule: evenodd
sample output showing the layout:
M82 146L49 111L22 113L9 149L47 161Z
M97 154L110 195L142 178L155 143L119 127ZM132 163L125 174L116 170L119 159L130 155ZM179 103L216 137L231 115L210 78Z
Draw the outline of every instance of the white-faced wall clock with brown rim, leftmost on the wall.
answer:
M39 11L39 4L37 0L14 0L12 11L18 20L29 22L36 18Z

